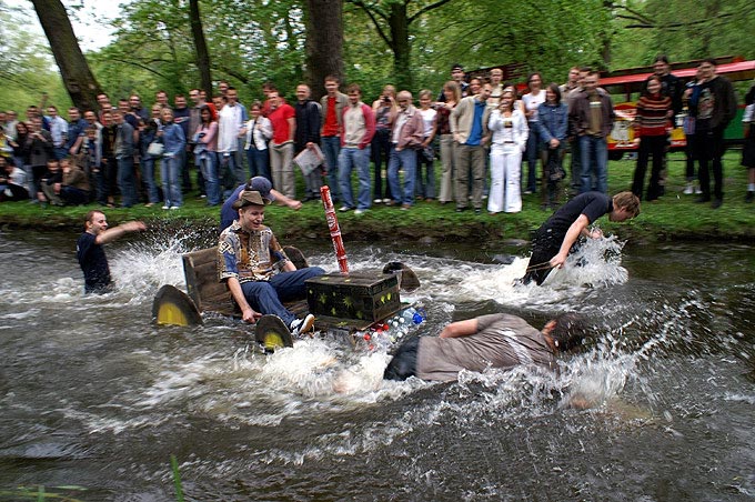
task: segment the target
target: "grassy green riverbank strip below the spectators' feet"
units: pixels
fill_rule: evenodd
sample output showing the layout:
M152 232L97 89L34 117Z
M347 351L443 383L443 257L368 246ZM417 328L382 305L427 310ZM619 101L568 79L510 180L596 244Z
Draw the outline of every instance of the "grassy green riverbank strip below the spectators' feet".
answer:
M746 170L739 165L741 152L729 151L724 160L724 204L714 210L709 204L694 203L695 195L683 194L684 155L671 154L666 194L657 202L643 203L640 217L627 223L600 220L606 233L640 242L724 240L755 242L755 204L744 202ZM439 165L440 167L440 165ZM626 190L632 182L635 161L612 161L608 164L610 193ZM436 169L437 174L437 169ZM440 182L437 184L440 187ZM299 193L303 189L299 187ZM128 220L143 220L148 225L167 232L181 228L211 230L218 225L219 208L207 208L204 199L190 193L185 205L178 211L163 211L159 205L130 209L108 209L111 225ZM383 204L374 205L362 215L352 212L338 213L346 241L420 242L433 245L453 241L481 247L495 247L503 240L528 240L551 211L540 207L540 195L524 195L523 210L516 214L489 215L486 211L475 215L467 210L454 211L452 203L441 205L436 201L417 202L411 211L401 211ZM563 202L563 200L562 200ZM80 229L87 212L100 209L97 204L71 208L41 208L28 202L0 203L0 228L32 230ZM286 241L328 239L328 224L319 201L305 203L298 212L272 205L265 214L265 223Z

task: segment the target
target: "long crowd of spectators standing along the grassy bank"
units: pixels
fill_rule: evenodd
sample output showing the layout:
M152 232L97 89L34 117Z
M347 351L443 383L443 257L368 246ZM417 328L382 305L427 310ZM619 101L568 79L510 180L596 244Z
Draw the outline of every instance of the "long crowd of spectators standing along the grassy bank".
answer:
M565 192L607 191L607 137L615 112L590 68L572 68L561 86L533 72L526 89L520 89L503 82L501 69L467 79L453 64L440 94L433 99L424 89L416 102L412 92L396 92L393 86L385 86L372 104L363 102L358 84L343 93L339 79L328 77L323 86L319 102L308 84L299 84L295 102L289 103L266 83L264 99L246 107L236 89L221 81L211 99L192 89L189 99L175 96L172 107L159 91L151 108L137 94L113 104L102 93L97 110L69 108L68 121L44 102L28 107L23 121L16 111L0 112L0 200L124 208L162 203L173 210L183 205L194 180L208 205L218 205L255 175L295 199L301 175L302 201L319 199L320 188L329 184L342 212L362 214L374 204L410 210L416 200L436 200L459 212L495 214L521 211L522 194L538 190L548 210ZM632 191L648 201L663 195L668 131L678 120L688 143L684 193L696 192L699 202L719 207L723 129L735 107L732 84L716 76L715 61L703 61L685 86L658 57L637 103ZM564 168L568 152L571 175ZM322 163L296 169L295 159L304 153L320 155ZM751 181L748 201L755 192Z

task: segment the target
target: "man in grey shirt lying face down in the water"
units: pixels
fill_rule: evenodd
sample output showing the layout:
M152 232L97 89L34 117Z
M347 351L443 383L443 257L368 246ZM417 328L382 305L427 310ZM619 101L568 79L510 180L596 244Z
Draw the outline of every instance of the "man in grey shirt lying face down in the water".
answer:
M481 315L453 322L439 337L416 337L404 342L383 379L417 376L451 382L462 370L509 370L521 364L555 370L555 354L581 345L584 333L582 321L573 313L548 321L542 331L516 315Z

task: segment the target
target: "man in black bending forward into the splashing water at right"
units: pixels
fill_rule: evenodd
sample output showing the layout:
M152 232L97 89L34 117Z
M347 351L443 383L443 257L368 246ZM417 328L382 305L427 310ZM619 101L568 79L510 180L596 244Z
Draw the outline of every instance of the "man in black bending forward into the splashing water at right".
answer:
M537 230L532 240L532 257L522 284L533 280L541 285L552 269L561 269L580 235L600 239L603 232L587 227L603 214L611 221L626 221L640 214L640 199L621 192L610 199L601 192L581 193L562 205Z

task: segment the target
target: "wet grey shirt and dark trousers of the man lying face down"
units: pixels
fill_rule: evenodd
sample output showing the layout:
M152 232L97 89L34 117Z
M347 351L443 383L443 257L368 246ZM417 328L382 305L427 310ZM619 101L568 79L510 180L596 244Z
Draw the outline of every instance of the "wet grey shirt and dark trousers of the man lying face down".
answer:
M477 318L477 332L466 337L420 337L396 351L383 378L454 381L462 370L512 369L537 365L555 370L553 349L545 337L523 319L510 314Z

